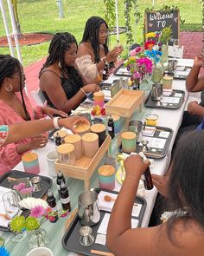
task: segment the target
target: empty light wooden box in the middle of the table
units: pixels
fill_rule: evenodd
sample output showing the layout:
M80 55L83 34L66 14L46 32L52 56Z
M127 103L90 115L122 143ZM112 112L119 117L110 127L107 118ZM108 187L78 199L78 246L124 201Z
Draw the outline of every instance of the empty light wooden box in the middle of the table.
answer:
M143 105L144 92L141 90L121 89L110 102L105 104L108 115L116 114L131 117L133 112Z

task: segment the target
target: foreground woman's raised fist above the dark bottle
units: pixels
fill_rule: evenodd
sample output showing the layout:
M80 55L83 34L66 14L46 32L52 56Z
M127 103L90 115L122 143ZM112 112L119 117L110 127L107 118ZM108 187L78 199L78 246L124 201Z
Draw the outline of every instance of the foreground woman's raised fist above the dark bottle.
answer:
M124 160L125 177L140 177L149 166L149 160L143 161L139 154L132 154Z

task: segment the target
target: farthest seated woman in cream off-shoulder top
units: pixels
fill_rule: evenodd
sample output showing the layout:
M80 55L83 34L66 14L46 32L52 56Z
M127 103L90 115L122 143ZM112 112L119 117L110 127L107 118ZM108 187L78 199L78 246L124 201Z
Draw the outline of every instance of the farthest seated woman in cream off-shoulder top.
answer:
M105 63L115 62L122 51L121 47L116 47L109 52L107 36L108 25L104 19L92 16L87 20L76 60L87 82L101 82Z

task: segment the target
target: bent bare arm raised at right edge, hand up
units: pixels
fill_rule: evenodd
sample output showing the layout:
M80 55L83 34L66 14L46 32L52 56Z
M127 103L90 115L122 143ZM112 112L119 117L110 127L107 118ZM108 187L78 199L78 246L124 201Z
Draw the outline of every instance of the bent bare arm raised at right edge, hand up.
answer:
M186 89L189 92L198 92L204 89L204 76L198 77L203 64L204 58L202 56L194 57L194 66L186 79Z

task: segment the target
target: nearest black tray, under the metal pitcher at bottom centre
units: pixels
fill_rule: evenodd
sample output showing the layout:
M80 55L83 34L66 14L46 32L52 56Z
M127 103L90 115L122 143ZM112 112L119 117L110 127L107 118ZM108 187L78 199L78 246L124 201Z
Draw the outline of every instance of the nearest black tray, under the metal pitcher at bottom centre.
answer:
M110 191L110 190L106 190L106 189L100 189L100 188L95 188L94 191L99 194L100 191L106 191L106 192L110 192L112 194L118 194L118 192L115 191ZM139 217L132 217L134 219L139 220L139 226L141 226L141 222L143 220L143 214L145 212L145 208L147 205L146 200L143 197L137 196L135 199L135 202L142 204L142 208L139 214ZM100 221L97 225L92 226L92 235L94 237L94 239L96 239L96 235L97 235L97 231L99 229L100 226L100 222L101 220L103 220L104 215L105 215L105 211L100 211L101 213L101 218ZM81 246L80 245L80 221L79 221L79 215L77 214L75 216L75 218L73 219L72 223L70 224L67 232L64 234L61 243L62 246L67 249L68 251L74 252L74 253L80 253L83 255L95 255L91 253L91 250L99 250L99 251L103 251L103 252L110 252L108 250L108 248L106 246L103 245L99 245L99 244L95 244L93 243L91 246Z

